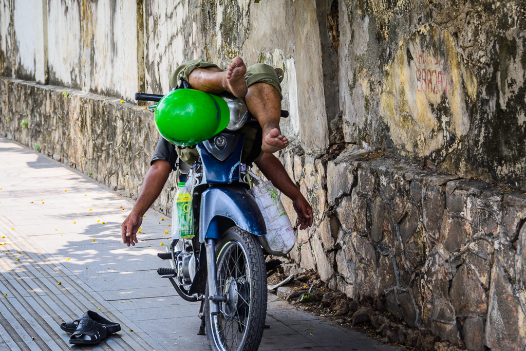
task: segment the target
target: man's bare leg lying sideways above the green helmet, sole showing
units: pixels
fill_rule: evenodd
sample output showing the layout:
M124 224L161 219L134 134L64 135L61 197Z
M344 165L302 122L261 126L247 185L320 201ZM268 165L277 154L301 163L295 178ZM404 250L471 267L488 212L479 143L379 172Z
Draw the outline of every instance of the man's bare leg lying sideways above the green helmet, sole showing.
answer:
M228 91L242 99L248 90L245 73L247 66L240 57L236 57L227 71L221 71L217 67L194 69L188 76L188 83L201 92L217 94Z

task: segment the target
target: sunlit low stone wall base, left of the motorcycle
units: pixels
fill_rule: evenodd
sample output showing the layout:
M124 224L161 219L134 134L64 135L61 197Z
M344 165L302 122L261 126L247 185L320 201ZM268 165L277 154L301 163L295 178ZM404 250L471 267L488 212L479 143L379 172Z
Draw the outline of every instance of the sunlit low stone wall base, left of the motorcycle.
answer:
M159 133L154 114L121 99L0 79L0 136L137 198ZM175 177L154 207L171 215Z

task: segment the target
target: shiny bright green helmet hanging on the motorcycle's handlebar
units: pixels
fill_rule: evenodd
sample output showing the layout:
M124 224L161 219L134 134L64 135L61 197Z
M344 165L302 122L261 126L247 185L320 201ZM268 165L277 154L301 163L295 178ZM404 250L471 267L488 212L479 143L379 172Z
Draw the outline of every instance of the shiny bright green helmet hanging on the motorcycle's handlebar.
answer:
M228 105L222 98L194 89L171 91L155 108L159 133L177 146L204 142L225 129L229 121Z

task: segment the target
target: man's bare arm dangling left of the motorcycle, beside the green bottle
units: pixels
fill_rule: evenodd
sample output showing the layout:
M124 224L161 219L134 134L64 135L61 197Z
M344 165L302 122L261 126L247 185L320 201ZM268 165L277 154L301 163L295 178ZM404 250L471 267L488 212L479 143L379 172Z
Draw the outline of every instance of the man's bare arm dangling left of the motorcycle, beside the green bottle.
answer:
M168 180L171 166L168 161L158 159L151 165L144 177L143 188L140 189L139 198L135 202L131 213L122 224L123 243L127 246L137 243L137 230L143 223L143 215L155 202Z

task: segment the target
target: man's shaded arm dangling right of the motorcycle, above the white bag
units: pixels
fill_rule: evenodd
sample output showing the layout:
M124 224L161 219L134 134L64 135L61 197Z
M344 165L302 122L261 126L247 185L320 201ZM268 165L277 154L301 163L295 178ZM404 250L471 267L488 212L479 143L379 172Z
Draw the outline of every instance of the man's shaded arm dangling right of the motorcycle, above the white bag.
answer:
M301 194L296 184L292 183L285 167L279 162L279 159L272 155L264 153L261 158L255 162L261 173L267 177L280 192L284 193L292 200L292 205L298 214L298 227L301 230L312 226L312 207Z

